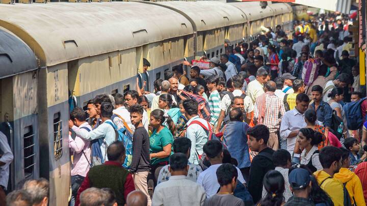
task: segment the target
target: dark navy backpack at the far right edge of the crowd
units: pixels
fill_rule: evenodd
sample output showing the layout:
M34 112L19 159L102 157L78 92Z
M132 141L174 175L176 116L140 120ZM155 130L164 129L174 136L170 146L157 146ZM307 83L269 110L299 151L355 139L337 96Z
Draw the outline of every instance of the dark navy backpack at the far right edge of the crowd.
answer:
M366 98L362 98L357 102L349 102L343 106L347 119L347 126L350 130L359 129L365 120L362 119L361 104Z

